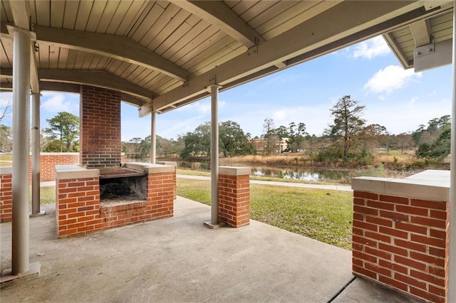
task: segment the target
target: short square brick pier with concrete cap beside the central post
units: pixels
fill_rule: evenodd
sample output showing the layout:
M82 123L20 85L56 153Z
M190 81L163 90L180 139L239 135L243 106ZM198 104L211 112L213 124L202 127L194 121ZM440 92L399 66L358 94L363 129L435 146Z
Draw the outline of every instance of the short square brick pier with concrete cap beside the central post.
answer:
M250 223L250 169L219 167L219 222L234 227Z

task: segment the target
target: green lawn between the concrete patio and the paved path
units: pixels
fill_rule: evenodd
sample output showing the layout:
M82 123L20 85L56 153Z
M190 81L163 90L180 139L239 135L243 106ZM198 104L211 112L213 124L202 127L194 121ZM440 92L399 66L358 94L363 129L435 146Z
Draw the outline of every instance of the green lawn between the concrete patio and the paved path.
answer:
M177 195L210 205L210 181L179 179ZM349 192L250 186L252 219L348 250L352 201Z

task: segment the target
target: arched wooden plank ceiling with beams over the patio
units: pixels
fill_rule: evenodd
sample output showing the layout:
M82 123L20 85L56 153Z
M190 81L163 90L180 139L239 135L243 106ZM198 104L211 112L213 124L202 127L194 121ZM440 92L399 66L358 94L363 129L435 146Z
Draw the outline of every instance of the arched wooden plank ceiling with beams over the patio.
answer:
M0 9L1 90L11 90L11 26L26 28L36 34L32 90L106 87L144 114L199 100L208 85L226 90L379 34L393 36L407 56L418 21L430 20L435 39L452 36L452 6L423 0L1 0Z

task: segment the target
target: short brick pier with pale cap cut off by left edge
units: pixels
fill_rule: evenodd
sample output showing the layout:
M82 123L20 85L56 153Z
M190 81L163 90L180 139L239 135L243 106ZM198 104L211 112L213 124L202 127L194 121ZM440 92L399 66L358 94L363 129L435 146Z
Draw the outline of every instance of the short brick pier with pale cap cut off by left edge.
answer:
M11 222L13 218L13 168L0 167L0 222Z

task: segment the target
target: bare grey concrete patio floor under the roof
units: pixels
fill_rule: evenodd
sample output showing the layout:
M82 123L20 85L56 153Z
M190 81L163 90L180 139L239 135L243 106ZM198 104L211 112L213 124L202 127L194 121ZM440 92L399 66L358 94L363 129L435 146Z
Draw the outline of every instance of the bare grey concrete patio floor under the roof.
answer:
M212 230L209 206L181 197L173 218L63 239L55 205L42 210L30 220L41 276L3 283L1 302L418 302L353 280L351 251L255 220ZM0 230L3 270L11 223Z

